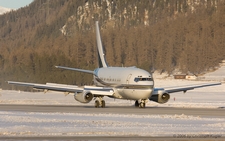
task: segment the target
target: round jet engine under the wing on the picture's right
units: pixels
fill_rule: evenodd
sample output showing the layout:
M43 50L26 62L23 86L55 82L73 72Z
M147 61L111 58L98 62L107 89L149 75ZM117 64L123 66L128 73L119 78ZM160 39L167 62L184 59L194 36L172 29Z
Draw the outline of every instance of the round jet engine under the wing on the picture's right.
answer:
M149 100L155 101L160 104L168 102L169 99L170 99L170 95L164 90L154 91L152 96L149 98Z

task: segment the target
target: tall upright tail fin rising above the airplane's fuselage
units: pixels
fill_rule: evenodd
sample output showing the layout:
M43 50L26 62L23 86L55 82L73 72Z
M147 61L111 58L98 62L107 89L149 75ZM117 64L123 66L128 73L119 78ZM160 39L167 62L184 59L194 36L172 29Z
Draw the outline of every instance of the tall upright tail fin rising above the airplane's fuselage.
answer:
M101 41L101 35L99 31L99 25L98 21L96 21L96 39L97 39L97 46L98 46L98 64L99 68L106 68L108 67L106 60L105 60L105 54L103 51L102 41Z

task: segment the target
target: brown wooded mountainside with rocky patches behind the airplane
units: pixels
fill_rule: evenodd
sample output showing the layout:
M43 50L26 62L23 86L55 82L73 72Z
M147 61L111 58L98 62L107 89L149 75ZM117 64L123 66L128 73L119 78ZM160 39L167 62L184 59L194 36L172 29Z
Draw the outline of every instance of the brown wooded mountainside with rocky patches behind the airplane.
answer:
M91 85L91 75L54 66L98 67L95 21L110 66L201 75L225 59L222 0L34 0L0 15L0 87Z

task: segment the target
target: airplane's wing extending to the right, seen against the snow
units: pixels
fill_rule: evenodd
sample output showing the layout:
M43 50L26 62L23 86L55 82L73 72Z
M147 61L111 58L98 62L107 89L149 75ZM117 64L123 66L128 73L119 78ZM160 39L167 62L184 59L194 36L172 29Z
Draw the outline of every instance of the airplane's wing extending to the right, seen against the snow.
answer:
M221 85L221 83L206 83L206 84L196 84L196 85L186 85L186 86L177 86L177 87L166 87L166 88L155 88L156 90L164 90L167 93L175 93L175 92L186 92L188 90L193 90L195 88L209 87Z

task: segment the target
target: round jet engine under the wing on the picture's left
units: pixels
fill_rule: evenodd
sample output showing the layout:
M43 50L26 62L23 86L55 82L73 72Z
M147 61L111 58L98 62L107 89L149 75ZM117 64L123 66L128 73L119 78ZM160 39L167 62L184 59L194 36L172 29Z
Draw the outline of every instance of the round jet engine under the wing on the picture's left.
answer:
M93 99L93 94L89 91L76 92L74 93L74 99L81 103L89 103Z

